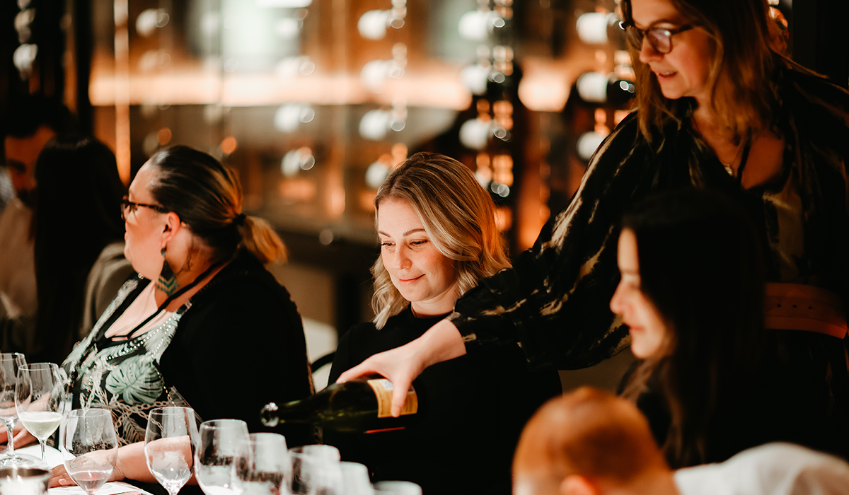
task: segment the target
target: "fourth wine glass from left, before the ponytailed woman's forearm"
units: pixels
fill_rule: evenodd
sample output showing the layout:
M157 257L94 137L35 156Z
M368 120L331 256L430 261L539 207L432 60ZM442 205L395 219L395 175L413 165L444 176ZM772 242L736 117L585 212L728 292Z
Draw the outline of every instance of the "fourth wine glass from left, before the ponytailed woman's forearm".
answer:
M155 408L148 417L144 435L144 457L148 469L165 487L168 495L177 495L192 477L198 428L192 408Z

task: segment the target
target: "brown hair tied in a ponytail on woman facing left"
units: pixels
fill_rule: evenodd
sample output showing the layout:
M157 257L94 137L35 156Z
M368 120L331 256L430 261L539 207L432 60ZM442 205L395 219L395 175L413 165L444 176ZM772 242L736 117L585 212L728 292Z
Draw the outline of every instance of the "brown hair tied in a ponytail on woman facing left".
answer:
M148 163L158 172L150 194L216 256L244 247L263 264L286 258L283 241L268 222L242 214L242 186L232 169L188 146L160 149Z

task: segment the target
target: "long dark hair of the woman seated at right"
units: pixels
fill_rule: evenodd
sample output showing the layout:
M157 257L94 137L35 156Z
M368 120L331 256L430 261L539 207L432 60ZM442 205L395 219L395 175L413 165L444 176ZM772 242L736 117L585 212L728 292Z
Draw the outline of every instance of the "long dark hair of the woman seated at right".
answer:
M711 421L736 411L763 342L763 263L745 211L721 194L683 189L639 203L623 218L637 239L640 290L666 322L665 349L631 376L636 400L660 382L672 424L673 467L706 462Z

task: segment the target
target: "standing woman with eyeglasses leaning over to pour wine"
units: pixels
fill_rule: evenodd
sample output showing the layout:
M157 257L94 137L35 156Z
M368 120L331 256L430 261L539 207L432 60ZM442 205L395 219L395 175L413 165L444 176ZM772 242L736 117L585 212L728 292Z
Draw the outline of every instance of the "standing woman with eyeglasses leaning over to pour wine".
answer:
M340 380L380 373L403 391L433 363L515 340L537 367L615 355L630 342L607 307L621 215L651 193L694 186L733 196L758 228L769 337L797 372L788 392L804 391L799 408L849 421L849 93L784 57L767 0L623 0L621 9L637 110L599 146L571 205L513 269L483 279L419 340Z

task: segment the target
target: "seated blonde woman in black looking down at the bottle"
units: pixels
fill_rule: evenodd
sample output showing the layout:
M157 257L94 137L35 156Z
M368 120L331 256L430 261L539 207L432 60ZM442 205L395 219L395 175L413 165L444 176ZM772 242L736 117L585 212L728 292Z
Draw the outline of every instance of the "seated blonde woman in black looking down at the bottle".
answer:
M374 321L340 340L329 380L367 357L418 338L482 277L509 267L492 197L467 166L419 153L393 170L374 199L380 257ZM458 357L419 377L427 406L404 430L324 440L374 481L418 483L424 493L510 492L509 466L522 425L561 392L554 371L531 373L519 346Z

